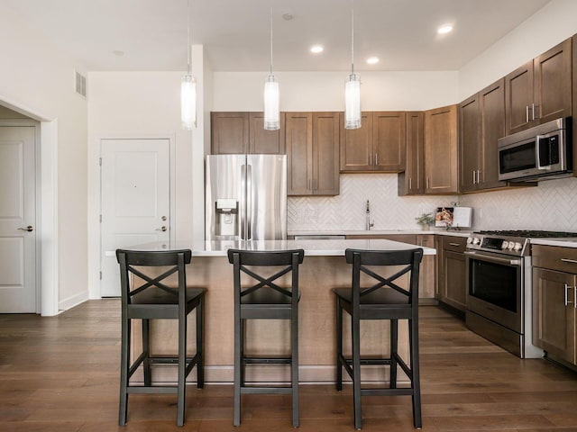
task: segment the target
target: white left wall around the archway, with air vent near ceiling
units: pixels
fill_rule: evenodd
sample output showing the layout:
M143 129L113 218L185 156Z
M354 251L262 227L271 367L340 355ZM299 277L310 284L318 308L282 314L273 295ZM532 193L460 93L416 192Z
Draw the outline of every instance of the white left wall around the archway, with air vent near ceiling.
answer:
M60 308L69 308L87 298L87 103L74 93L73 81L75 67L80 71L84 67L1 3L0 17L0 100L36 120L58 120L54 151L58 189L51 202L58 206L54 229L58 237L46 237L44 232L41 241L58 251L53 262L59 264L58 269L42 272L55 274L57 302Z

